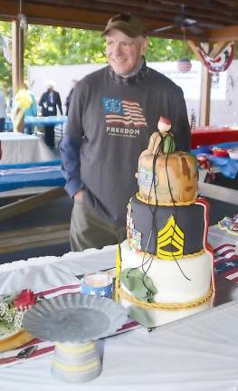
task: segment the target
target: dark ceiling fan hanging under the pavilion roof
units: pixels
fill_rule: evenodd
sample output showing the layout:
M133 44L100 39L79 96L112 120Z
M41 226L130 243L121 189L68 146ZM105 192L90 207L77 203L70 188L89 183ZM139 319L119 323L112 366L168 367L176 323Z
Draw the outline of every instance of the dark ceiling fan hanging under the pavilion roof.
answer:
M186 16L188 11L188 6L181 5L181 14L175 15L174 24L167 25L165 27L158 28L154 30L155 33L164 32L171 30L173 28L180 28L181 30L189 30L192 33L200 34L203 33L203 28L221 28L221 24L210 24L210 23L200 23L194 18Z

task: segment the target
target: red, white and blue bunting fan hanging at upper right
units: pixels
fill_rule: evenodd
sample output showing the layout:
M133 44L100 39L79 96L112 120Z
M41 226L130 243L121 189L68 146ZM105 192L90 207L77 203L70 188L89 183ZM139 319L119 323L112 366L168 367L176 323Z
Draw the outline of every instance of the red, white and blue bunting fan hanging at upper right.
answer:
M229 43L227 46L225 46L224 50L220 52L215 58L212 58L206 54L204 49L200 46L197 47L197 50L209 72L224 72L233 61L233 43Z

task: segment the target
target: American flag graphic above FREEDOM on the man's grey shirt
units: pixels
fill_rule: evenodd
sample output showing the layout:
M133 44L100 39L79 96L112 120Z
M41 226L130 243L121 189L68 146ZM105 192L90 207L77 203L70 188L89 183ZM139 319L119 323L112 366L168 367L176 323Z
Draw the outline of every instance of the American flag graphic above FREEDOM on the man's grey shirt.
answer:
M122 124L126 127L145 128L148 126L138 102L119 98L102 98L107 125Z

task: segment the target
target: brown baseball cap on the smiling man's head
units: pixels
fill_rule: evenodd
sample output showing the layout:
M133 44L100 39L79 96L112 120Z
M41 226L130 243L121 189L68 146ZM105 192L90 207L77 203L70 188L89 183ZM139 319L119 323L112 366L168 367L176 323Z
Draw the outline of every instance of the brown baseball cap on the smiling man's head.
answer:
M133 14L117 14L116 16L113 16L109 19L109 22L101 35L105 35L113 28L125 33L131 38L136 38L138 35L147 36L145 25Z

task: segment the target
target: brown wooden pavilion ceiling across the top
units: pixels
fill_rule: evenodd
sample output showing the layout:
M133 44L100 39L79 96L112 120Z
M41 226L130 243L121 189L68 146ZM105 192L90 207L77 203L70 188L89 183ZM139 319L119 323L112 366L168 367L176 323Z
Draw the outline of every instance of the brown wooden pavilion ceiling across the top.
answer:
M184 39L181 24L177 23L182 16L195 20L200 27L197 32L186 28L186 38L199 42L238 41L237 0L22 0L21 3L28 23L102 30L111 15L129 12L142 17L149 35ZM1 20L14 20L19 12L20 0L1 0ZM167 26L173 27L155 32Z

